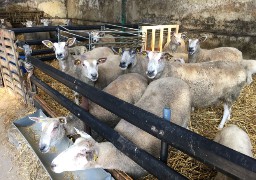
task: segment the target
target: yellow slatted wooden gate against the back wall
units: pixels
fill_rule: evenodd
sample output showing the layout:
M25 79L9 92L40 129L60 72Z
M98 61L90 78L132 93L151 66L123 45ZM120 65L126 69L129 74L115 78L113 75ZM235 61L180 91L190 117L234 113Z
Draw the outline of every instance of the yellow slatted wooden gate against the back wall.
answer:
M165 43L170 42L171 31L179 32L179 25L141 26L142 50L162 52Z

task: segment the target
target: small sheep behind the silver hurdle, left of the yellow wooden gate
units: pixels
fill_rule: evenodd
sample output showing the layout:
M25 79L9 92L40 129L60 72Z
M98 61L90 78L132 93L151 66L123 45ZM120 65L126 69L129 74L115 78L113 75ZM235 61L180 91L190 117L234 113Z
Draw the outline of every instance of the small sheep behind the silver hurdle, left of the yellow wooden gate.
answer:
M92 31L90 32L90 35L92 37L92 42L97 43L94 47L113 46L113 43L115 42L114 36L110 34L105 34L104 32Z

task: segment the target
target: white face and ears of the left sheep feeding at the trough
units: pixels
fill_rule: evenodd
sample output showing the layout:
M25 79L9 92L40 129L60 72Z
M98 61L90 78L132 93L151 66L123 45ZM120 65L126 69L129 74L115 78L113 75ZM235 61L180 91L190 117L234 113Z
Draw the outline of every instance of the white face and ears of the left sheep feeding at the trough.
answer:
M30 119L37 123L42 123L42 133L39 141L39 149L42 153L49 152L50 148L59 143L65 136L64 124L67 123L65 117L30 117Z

